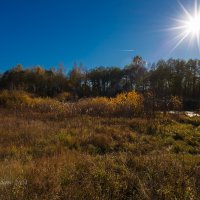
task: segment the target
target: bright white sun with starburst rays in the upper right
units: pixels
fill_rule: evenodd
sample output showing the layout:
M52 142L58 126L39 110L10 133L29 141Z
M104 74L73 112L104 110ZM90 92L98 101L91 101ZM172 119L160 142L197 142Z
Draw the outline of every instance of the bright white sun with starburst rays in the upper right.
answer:
M179 4L183 10L182 17L174 19L176 24L170 28L171 31L176 31L177 34L174 38L176 45L173 50L183 41L189 39L198 46L200 51L200 5L198 4L198 1L195 0L194 9L189 11L183 4L180 2Z

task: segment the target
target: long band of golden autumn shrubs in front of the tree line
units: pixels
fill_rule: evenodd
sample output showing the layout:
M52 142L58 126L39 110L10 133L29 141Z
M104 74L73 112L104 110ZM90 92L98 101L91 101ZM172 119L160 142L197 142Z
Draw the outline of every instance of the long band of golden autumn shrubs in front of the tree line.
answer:
M171 97L169 103L170 107L167 110L179 110L182 105L175 96ZM145 95L135 91L121 93L112 98L94 97L73 102L73 95L67 92L60 93L55 98L41 98L23 91L3 90L0 92L0 106L65 116L87 114L104 117L141 117L144 114L148 115L151 102L147 102Z

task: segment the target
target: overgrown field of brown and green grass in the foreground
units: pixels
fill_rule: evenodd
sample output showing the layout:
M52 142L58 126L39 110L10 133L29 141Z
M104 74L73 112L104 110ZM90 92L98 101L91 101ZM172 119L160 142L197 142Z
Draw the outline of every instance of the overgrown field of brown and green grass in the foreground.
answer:
M10 102L0 108L0 199L200 199L200 118Z

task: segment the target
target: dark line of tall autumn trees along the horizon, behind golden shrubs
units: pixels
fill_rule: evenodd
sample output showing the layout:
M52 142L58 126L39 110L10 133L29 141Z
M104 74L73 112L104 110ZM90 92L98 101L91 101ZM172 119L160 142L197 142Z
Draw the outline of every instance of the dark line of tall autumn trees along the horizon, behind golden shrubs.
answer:
M17 65L0 78L0 89L24 90L42 97L55 97L68 92L73 99L85 97L114 97L122 92L142 93L152 107L168 105L176 96L183 100L185 109L200 105L200 60L160 60L146 66L140 56L123 68L96 67L84 70L74 66L69 73L63 69ZM148 105L149 105L148 103Z

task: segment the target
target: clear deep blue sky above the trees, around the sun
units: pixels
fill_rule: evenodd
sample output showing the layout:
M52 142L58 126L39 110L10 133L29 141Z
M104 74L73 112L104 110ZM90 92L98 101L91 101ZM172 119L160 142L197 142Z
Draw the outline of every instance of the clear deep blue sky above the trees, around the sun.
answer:
M199 58L186 42L169 53L172 34L160 30L180 13L176 0L1 0L0 71L19 63L122 67L137 54L148 62Z

